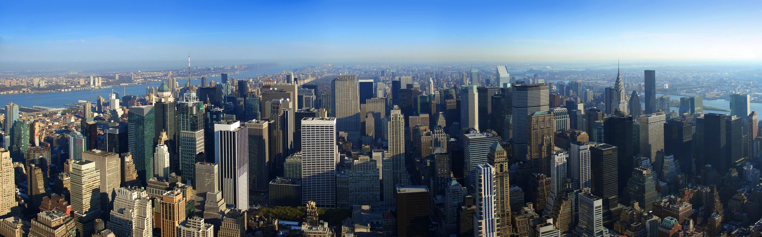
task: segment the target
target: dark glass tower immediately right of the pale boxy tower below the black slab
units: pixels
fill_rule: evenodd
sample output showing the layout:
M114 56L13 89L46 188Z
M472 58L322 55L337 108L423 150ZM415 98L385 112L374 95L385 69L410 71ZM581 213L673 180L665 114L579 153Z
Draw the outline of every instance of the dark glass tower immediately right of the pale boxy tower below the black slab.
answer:
M671 119L664 123L664 153L673 154L684 174L695 174L693 133L696 127L688 120Z

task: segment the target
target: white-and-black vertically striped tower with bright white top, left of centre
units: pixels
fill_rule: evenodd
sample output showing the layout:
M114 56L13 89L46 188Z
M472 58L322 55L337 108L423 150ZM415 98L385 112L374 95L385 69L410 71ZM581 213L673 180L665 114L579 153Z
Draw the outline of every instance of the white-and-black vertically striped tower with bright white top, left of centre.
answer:
M240 121L214 124L214 161L228 205L248 208L248 130Z

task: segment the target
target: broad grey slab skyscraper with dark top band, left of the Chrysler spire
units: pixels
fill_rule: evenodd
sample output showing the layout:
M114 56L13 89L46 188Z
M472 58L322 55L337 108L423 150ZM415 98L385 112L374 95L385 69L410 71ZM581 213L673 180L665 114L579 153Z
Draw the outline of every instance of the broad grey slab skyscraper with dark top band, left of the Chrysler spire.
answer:
M511 98L513 111L513 123L511 132L513 139L511 144L514 148L514 157L521 159L527 157L528 119L529 115L537 111L549 109L548 85L547 84L522 84L513 85L513 98Z

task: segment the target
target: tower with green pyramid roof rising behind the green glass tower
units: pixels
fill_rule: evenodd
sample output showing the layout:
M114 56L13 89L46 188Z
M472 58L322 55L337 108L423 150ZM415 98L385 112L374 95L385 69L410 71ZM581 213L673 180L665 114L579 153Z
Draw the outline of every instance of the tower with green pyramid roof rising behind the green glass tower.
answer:
M155 116L154 136L155 139L158 139L158 135L162 133L162 131L167 133L165 144L168 146L170 154L174 156L174 152L177 151L174 139L177 136L178 117L177 107L174 104L174 97L172 96L170 87L174 88L174 85L168 86L166 83L162 82L162 85L160 85L156 91L158 98L156 98L156 101L153 103Z

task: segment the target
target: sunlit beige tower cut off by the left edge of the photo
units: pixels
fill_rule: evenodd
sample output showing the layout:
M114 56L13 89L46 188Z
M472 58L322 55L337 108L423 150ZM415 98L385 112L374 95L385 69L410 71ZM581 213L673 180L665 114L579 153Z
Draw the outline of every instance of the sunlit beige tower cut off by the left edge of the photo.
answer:
M0 149L0 218L21 214L16 201L16 181L11 152Z

